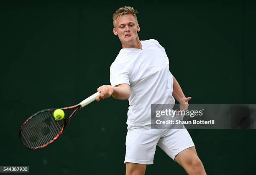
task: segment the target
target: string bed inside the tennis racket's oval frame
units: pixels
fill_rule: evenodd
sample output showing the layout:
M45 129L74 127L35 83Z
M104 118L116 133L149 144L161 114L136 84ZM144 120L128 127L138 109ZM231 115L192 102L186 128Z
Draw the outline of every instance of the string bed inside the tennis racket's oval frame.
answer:
M64 123L64 119L55 120L52 110L39 112L23 126L20 138L30 149L44 146L56 138Z

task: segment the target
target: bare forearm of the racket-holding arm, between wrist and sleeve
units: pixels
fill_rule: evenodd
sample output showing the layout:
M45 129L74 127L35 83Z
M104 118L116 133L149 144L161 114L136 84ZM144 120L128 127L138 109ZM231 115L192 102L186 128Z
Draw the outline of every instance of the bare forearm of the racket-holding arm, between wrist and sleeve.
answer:
M120 84L118 86L113 86L112 96L115 99L126 100L129 99L131 94L130 86L128 84Z

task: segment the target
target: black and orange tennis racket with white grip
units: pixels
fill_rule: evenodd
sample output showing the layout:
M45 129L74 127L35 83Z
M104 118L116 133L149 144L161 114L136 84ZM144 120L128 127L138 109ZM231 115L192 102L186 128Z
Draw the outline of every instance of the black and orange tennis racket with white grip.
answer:
M37 150L51 144L60 136L73 115L82 107L95 101L98 95L100 93L96 92L77 105L60 108L64 111L73 110L68 118L64 117L61 120L54 118L53 113L57 108L36 112L20 127L19 137L22 144L30 150Z

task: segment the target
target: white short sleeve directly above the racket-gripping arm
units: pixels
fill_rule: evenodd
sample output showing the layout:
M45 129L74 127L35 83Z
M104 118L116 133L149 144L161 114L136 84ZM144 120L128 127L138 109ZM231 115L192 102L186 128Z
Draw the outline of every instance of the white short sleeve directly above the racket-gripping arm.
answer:
M129 72L123 65L114 62L110 66L110 84L116 86L124 83L130 85Z

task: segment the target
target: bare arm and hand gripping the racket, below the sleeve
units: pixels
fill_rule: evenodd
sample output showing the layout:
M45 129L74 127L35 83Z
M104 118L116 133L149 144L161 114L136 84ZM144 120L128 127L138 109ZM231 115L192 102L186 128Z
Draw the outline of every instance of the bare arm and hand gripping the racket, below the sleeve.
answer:
M100 95L96 97L97 101L100 101L100 99L109 98L111 95L115 99L126 100L131 94L130 85L126 83L116 86L103 85L100 86L97 91L100 92Z

